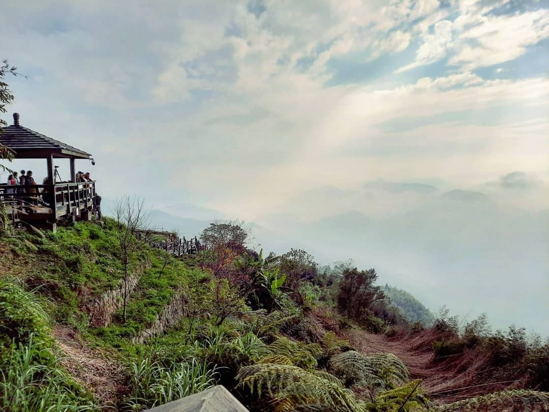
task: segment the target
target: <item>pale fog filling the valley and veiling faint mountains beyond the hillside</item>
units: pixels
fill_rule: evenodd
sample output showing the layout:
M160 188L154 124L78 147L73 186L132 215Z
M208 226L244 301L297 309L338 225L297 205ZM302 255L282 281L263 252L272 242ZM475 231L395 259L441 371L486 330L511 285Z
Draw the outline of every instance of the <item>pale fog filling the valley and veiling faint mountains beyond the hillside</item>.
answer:
M252 219L177 204L153 209L151 220L191 236L211 220L243 219L258 249L304 248L321 264L352 258L435 313L442 305L467 320L486 313L494 329L516 324L547 336L547 193L544 182L523 172L450 190L376 180L356 189L313 188L279 213Z

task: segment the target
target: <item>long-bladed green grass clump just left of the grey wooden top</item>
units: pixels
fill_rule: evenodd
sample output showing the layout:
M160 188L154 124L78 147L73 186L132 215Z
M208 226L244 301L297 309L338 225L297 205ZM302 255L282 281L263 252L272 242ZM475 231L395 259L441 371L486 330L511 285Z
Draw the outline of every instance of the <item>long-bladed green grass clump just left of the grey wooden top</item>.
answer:
M165 364L167 363L167 365ZM127 366L130 377L125 409L143 410L204 391L215 385L216 368L196 358L181 363L155 360L152 354Z

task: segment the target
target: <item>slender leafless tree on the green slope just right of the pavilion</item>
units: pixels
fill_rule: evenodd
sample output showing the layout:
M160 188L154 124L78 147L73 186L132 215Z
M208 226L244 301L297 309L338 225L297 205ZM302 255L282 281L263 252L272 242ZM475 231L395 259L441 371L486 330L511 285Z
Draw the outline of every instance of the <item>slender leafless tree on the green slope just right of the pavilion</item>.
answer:
M136 258L137 253L142 250L144 243L136 237L138 230L147 227L148 213L143 209L144 199L125 196L115 201L114 212L116 215L117 239L120 246L122 265L124 265L124 294L122 296L123 309L122 318L126 322L126 305L128 285L130 282L130 265Z

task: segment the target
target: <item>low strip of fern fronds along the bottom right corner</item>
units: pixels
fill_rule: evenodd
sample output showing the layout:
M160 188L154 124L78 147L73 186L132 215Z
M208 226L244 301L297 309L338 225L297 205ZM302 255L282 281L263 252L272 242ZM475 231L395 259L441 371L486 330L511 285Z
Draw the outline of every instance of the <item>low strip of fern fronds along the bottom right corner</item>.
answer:
M460 400L448 405L441 405L435 410L438 412L544 411L549 410L549 393L515 389L513 391L490 393L476 398Z

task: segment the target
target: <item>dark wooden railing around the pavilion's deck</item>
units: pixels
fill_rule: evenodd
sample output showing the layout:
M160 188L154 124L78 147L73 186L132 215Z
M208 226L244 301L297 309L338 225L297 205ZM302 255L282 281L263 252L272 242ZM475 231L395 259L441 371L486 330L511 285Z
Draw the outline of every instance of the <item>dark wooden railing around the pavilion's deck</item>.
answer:
M49 215L54 220L91 210L96 182L61 182L55 185L0 185L0 201L29 215Z

